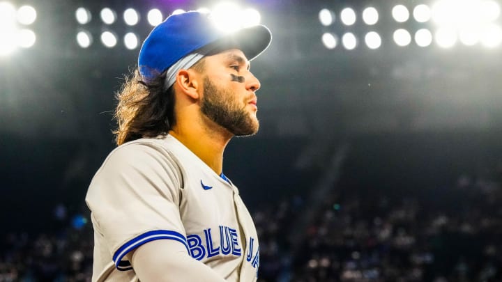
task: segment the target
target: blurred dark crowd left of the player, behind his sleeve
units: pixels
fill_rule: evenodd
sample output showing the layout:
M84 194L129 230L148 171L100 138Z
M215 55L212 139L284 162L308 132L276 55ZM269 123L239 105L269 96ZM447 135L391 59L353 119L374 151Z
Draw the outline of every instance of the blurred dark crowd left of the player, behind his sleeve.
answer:
M91 226L54 234L15 234L3 238L0 281L91 281Z

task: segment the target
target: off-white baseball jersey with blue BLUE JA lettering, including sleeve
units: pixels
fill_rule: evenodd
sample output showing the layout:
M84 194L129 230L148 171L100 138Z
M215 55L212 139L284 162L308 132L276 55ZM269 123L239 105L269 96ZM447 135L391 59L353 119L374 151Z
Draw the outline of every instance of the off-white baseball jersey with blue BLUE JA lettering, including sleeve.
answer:
M257 231L238 189L173 136L113 150L86 203L94 228L93 281L137 281L128 253L152 240L183 244L227 281L257 280Z

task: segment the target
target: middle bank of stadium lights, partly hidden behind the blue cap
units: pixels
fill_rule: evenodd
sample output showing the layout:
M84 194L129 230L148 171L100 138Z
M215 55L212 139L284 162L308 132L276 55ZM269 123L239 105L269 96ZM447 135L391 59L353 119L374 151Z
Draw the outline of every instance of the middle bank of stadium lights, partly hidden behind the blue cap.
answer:
M208 8L199 8L198 10L202 13L210 12ZM184 12L185 10L183 9L176 9L172 12L172 15ZM231 29L238 26L252 26L259 24L261 21L261 15L257 10L252 8L241 10L238 6L231 2L218 4L211 10L211 13L213 14L213 19L219 21L216 22L216 24L218 24L218 26L222 29L227 29L227 31L231 31ZM84 26L91 22L91 12L86 8L77 8L75 11L75 18L80 25L80 31L77 33L76 38L77 44L82 48L88 48L93 44L93 37L91 32L84 29ZM103 24L109 26L114 24L118 17L116 12L111 8L103 8L100 11L100 19ZM135 9L128 8L124 10L122 19L126 25L135 26L139 23L140 16ZM162 12L155 8L147 13L146 19L151 26L156 26L162 22L164 17L162 16ZM108 48L116 47L119 42L118 38L119 37L116 33L111 30L103 31L100 35L102 45ZM123 36L123 44L127 49L137 49L139 46L139 37L135 33L128 32L125 36Z

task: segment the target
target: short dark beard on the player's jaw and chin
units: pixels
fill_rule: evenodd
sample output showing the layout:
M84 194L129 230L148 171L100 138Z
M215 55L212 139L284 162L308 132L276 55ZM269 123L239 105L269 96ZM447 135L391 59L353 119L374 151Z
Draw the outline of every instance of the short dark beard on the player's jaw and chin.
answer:
M249 111L238 104L234 93L218 88L204 78L204 96L201 111L210 120L225 128L234 136L249 136L258 132L259 122Z

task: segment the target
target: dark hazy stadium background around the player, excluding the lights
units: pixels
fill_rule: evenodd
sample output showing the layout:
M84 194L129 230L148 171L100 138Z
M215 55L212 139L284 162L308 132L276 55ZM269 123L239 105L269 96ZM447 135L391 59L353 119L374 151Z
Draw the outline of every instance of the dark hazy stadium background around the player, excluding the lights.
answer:
M273 32L252 62L260 132L231 141L224 162L261 233L261 281L502 281L502 47L397 47L390 15L379 49L321 42L321 8L418 2L240 2ZM0 57L0 281L86 281L84 196L138 50L78 47L75 9L211 2L11 3L38 16L36 45ZM97 16L87 28L102 29Z

